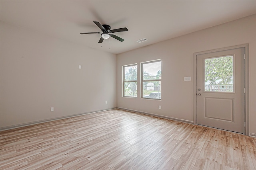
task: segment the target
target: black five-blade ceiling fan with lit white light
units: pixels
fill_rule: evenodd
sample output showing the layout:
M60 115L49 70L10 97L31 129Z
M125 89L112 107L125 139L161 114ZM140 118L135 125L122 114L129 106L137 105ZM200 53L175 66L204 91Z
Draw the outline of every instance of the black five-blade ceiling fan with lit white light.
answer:
M104 39L108 39L109 37L113 37L114 39L117 39L121 42L124 41L124 39L122 39L122 38L120 38L120 37L118 37L114 34L111 34L111 33L128 31L128 29L126 27L111 30L111 27L109 25L106 25L106 24L101 25L98 21L93 21L93 22L101 29L102 33L100 33L100 32L89 32L89 33L80 33L80 34L101 34L99 43L102 43Z

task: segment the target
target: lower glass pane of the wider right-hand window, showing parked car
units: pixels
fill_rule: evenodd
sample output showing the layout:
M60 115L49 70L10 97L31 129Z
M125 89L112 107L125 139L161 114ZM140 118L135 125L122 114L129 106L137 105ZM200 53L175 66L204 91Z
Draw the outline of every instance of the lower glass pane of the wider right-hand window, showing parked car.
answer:
M143 98L161 99L161 82L143 82Z

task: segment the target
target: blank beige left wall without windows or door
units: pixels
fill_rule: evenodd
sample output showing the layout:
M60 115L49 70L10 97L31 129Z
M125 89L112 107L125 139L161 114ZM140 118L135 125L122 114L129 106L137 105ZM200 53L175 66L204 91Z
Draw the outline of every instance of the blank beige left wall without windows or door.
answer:
M1 22L0 127L114 107L116 55Z

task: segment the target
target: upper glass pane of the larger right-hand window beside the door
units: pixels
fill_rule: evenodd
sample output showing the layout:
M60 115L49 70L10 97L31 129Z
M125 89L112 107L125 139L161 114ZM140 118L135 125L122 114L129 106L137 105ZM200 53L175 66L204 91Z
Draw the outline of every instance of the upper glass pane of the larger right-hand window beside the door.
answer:
M143 64L143 80L161 79L161 61Z

